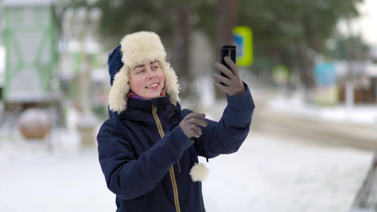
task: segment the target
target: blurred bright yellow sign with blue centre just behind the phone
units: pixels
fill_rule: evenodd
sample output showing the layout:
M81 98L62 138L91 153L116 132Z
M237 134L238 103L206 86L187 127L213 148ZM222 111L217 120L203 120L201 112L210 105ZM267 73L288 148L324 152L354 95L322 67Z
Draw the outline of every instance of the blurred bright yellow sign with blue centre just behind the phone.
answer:
M248 26L233 28L233 43L236 46L236 65L250 66L253 63L253 31Z

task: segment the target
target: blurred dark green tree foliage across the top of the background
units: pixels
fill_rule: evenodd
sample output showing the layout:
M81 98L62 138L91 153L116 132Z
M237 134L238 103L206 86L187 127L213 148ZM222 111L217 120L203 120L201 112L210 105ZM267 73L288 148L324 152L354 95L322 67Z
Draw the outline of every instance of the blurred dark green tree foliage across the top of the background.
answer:
M85 3L73 1L74 5ZM155 31L172 52L168 54L181 81L181 95L193 77L188 62L190 32L200 28L219 46L231 44L231 30L236 25L253 29L254 65L262 71L273 65L297 70L303 86L314 87L313 67L316 55L328 53L326 41L336 31L342 18L358 15L357 4L363 0L99 0L103 11L102 37L107 47L114 47L125 34ZM109 48L110 49L110 48ZM222 94L217 93L216 97Z

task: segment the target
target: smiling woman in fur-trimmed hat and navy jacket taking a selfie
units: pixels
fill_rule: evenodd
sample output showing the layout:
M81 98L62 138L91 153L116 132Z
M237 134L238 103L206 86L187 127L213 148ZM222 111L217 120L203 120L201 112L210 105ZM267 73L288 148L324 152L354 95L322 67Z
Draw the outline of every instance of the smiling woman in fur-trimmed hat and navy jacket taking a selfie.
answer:
M214 158L238 151L251 123L254 103L229 57L216 68L229 78L228 106L219 122L181 109L178 80L165 61L158 35L126 35L109 55L109 114L97 135L107 187L116 211L205 211L201 181L208 170L198 156Z

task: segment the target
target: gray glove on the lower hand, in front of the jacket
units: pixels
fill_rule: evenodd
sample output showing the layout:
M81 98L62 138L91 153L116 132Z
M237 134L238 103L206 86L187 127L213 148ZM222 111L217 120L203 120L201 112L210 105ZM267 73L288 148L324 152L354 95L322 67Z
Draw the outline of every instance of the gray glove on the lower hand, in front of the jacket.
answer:
M181 127L187 138L199 138L199 136L202 135L202 129L199 126L207 126L207 121L203 120L204 117L205 114L190 113L182 119L182 121L179 123L179 126Z

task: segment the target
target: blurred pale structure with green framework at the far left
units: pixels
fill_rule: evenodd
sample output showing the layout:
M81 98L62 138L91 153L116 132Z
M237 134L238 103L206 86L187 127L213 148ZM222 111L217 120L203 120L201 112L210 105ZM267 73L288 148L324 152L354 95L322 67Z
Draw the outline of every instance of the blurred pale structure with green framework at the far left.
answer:
M6 102L46 102L56 69L56 23L52 0L5 0Z

